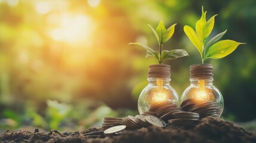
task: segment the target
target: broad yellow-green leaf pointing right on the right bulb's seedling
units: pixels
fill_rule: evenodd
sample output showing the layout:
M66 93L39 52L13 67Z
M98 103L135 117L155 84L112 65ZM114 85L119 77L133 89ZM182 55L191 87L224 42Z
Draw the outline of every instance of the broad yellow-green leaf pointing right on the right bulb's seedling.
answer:
M232 40L223 40L223 41L214 43L214 45L209 47L209 50L206 53L205 59L207 58L219 59L219 58L226 57L227 55L235 51L235 49L240 44L245 44L245 43L239 43Z

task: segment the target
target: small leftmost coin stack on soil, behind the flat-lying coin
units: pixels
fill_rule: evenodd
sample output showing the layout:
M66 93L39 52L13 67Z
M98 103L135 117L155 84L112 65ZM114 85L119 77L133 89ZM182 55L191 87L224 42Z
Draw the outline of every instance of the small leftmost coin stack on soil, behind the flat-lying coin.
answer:
M123 125L123 119L117 117L104 117L102 128L108 129L118 125Z

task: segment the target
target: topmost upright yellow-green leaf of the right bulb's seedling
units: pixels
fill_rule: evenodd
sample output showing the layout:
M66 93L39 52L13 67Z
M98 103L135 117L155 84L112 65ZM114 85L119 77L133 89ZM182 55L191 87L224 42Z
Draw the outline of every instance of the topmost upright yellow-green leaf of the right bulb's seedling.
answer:
M205 38L205 25L206 25L206 11L203 11L203 6L202 6L202 15L201 18L196 21L196 33L198 34L199 38L201 41L204 41Z

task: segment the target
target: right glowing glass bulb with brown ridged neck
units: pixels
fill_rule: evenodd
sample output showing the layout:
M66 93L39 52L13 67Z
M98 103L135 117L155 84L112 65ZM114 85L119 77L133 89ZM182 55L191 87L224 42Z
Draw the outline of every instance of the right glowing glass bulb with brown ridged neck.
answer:
M220 117L224 101L221 92L213 85L213 80L211 64L190 66L190 86L181 96L181 108L182 102L187 100L192 106L190 111L201 113L202 117ZM193 110L193 107L197 107L196 110Z

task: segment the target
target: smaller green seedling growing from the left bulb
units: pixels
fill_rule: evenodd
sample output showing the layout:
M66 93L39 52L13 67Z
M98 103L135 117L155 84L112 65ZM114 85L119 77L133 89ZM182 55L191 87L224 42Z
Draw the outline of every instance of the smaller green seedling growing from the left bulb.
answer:
M156 52L152 48L149 48L149 46L143 45L141 43L129 43L128 45L134 44L142 46L147 51L146 58L149 56L153 56L156 58L156 60L158 60L159 64L162 64L165 60L171 60L187 56L189 54L187 54L187 51L184 49L173 49L171 51L163 51L164 43L171 39L172 35L174 34L175 25L176 24L173 24L171 27L166 29L165 24L162 20L160 21L156 29L153 29L153 27L149 25L154 35L156 36L156 39L158 39L159 52Z

